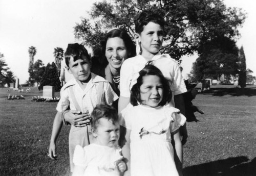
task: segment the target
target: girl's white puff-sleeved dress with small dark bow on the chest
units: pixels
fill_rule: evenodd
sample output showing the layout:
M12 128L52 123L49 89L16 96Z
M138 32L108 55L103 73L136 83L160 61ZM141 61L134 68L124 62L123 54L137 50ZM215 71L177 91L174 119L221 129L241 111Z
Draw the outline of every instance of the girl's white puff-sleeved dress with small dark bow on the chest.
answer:
M131 130L131 175L178 175L170 133L186 122L179 110L138 105L124 109L121 125Z

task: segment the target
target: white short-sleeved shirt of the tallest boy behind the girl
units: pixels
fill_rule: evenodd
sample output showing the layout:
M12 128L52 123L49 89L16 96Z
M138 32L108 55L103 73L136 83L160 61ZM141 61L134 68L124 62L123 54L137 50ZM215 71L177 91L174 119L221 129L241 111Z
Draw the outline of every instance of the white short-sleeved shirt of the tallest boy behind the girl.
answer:
M172 82L173 95L187 91L178 63L174 59L170 58L168 54L161 55L158 53L151 61L162 71L163 76ZM126 59L123 62L120 72L120 96L130 97L133 77L144 68L146 63L147 61L141 55ZM174 106L174 98L172 98L171 104Z

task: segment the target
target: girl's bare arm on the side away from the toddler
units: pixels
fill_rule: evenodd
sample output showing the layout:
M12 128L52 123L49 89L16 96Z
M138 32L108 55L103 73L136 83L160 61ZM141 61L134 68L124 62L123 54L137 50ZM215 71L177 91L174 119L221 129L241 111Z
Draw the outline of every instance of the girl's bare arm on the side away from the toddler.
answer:
M174 141L174 149L175 149L175 154L174 154L174 160L176 164L176 168L178 170L178 173L180 176L182 176L182 144L181 144L181 139L180 139L180 132L179 130L176 130L174 133L172 133L172 138Z

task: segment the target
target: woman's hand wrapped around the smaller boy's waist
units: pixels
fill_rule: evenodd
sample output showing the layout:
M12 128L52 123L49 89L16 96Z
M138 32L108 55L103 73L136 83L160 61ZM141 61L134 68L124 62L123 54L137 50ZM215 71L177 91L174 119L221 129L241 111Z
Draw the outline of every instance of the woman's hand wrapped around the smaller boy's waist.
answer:
M89 114L89 111L81 114L80 111L70 110L64 114L64 118L75 127L86 127L91 122L91 115Z

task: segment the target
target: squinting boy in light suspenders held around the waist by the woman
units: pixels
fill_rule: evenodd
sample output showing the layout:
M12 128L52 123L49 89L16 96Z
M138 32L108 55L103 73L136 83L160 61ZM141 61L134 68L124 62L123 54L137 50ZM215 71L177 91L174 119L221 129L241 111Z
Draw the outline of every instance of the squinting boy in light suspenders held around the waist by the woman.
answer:
M69 44L65 53L66 68L74 79L67 82L60 90L60 100L57 105L57 114L53 122L52 136L49 146L49 157L56 159L55 148L58 134L63 122L62 114L69 107L70 110L87 114L84 121L76 119L71 125L69 134L70 167L73 171L73 154L76 145L90 144L90 113L98 104L112 103L118 98L108 81L91 72L91 60L87 49L83 45ZM81 122L82 121L82 122Z

